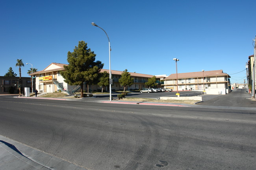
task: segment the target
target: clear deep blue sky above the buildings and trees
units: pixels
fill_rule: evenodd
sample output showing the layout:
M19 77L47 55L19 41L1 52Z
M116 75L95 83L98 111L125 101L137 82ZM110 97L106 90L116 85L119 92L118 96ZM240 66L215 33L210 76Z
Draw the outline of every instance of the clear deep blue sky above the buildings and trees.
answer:
M256 35L255 0L6 0L0 9L1 76L9 67L19 76L17 59L22 77L27 62L38 71L68 64L81 40L109 69L108 38L95 22L108 33L113 70L168 76L178 58L179 73L223 69L240 83Z

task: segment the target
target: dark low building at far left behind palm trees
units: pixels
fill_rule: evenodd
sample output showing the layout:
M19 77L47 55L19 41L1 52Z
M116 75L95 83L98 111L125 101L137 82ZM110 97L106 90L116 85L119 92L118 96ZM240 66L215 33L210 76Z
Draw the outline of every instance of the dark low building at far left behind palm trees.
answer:
M0 94L8 94L9 89L11 87L14 88L13 93L18 94L19 79L20 77L0 76ZM32 90L31 77L21 77L21 82L20 82L21 93L22 91L24 91L25 87L30 88L30 91Z

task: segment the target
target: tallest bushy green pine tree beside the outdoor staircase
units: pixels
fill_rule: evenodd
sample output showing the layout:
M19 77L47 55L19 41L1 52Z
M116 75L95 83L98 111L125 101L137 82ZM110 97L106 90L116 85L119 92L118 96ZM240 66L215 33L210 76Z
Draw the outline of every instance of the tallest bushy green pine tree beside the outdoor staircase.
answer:
M68 52L68 66L64 66L65 71L61 75L64 81L70 85L81 86L81 97L83 97L83 83L92 83L98 79L98 72L103 68L101 61L95 61L96 54L87 48L87 43L79 41L78 47L74 51Z

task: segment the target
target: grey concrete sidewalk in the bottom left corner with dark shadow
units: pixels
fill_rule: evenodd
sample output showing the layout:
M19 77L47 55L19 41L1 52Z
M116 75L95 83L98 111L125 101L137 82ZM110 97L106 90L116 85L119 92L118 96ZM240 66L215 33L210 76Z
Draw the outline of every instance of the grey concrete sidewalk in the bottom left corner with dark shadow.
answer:
M0 170L86 170L0 135Z

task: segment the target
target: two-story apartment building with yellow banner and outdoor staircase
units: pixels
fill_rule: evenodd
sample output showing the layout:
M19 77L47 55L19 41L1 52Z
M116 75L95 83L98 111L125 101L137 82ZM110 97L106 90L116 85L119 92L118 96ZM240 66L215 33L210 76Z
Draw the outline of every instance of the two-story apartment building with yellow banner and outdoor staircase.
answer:
M35 76L35 89L37 89L40 93L44 92L54 92L54 91L67 91L72 92L80 89L80 86L70 86L66 82L64 82L64 78L61 76L60 71L65 71L64 67L67 64L60 64L60 63L51 63L49 66L47 66L42 71L37 71L35 73L31 73L30 75ZM109 73L108 69L101 69L100 72L107 71ZM115 90L123 90L124 87L121 86L119 83L119 79L122 75L123 71L116 71L111 70L111 75L113 78L113 85L112 89ZM130 73L132 78L134 78L134 84L132 86L127 87L126 89L143 89L147 88L145 85L145 82L148 81L149 78L153 77L153 75L147 75L147 74L140 74L140 73ZM98 85L92 85L89 84L87 86L86 82L84 84L83 89L87 91L87 88L89 90L101 90L101 87ZM109 87L106 87L106 91L109 91Z

